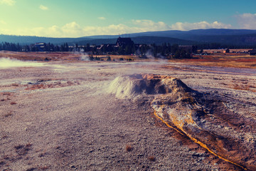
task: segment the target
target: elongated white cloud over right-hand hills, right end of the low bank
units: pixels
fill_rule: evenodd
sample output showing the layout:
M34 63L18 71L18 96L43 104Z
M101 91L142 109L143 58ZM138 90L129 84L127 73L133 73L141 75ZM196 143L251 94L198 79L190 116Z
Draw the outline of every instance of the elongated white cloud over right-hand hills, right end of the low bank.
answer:
M208 23L207 21L201 21L198 23L181 23L177 22L176 24L171 25L173 30L188 31L193 29L207 29L207 28L231 28L230 24L223 24L218 21L213 23Z

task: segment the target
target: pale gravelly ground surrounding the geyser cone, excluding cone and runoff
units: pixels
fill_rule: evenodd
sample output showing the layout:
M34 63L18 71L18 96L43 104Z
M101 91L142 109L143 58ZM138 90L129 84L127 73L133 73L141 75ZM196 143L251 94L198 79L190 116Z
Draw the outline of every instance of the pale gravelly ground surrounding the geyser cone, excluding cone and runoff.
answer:
M114 78L133 73L174 76L256 119L255 69L163 61L0 68L0 170L242 170L167 128L151 96L108 93Z

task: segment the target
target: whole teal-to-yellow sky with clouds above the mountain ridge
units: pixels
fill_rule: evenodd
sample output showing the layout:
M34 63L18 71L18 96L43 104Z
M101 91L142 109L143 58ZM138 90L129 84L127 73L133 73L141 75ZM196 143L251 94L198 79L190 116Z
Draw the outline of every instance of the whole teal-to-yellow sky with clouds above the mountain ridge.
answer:
M0 0L0 33L80 37L198 28L256 29L255 0Z

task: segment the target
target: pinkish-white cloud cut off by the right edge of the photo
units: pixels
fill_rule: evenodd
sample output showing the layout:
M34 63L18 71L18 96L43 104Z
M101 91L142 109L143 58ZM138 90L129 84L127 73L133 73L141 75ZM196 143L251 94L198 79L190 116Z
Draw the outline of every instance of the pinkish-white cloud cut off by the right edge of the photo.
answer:
M238 24L240 28L244 29L256 29L256 14L240 14L236 16L238 19Z

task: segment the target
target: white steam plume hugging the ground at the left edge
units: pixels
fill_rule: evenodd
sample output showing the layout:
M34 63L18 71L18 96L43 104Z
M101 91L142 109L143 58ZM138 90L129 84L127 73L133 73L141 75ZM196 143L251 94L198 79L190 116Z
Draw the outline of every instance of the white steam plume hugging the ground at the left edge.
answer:
M13 67L41 67L46 63L37 63L31 61L19 61L17 59L0 58L0 68L13 68Z

